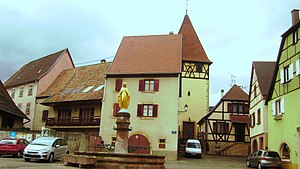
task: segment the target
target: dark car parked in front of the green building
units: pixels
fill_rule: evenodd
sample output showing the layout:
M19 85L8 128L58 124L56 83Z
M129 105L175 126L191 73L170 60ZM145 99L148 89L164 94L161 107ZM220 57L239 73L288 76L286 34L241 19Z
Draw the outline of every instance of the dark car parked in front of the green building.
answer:
M258 169L267 167L282 168L282 160L276 151L258 150L248 156L246 165Z

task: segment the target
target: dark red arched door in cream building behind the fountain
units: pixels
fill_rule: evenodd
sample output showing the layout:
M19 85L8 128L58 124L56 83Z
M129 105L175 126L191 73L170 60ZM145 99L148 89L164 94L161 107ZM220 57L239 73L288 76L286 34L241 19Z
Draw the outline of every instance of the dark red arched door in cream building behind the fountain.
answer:
M150 142L142 134L134 134L128 139L128 152L150 154Z

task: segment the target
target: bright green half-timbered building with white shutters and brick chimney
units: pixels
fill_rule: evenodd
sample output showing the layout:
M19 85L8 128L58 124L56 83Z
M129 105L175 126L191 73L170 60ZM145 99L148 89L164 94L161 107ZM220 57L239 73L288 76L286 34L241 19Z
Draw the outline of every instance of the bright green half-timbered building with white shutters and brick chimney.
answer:
M282 35L268 94L269 149L278 151L284 168L298 168L300 126L299 10L292 11L292 26Z

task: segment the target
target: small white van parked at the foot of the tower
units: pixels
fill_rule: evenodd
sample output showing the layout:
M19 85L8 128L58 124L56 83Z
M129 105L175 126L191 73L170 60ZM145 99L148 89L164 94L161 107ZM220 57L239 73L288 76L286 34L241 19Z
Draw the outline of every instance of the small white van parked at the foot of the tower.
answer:
M185 146L185 156L199 156L201 158L202 150L199 140L188 139Z

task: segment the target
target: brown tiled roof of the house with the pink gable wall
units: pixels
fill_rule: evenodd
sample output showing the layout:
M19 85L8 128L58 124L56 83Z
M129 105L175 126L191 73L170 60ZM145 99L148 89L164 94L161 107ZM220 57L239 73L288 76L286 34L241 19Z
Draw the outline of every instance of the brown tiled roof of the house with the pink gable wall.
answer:
M68 49L63 49L25 64L5 82L5 87L17 86L40 79L52 68L64 52L68 52Z

